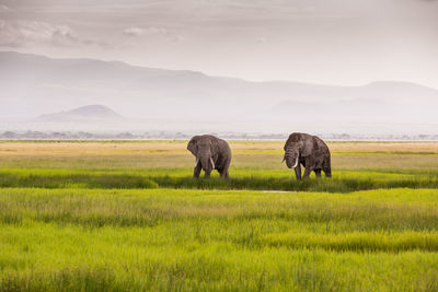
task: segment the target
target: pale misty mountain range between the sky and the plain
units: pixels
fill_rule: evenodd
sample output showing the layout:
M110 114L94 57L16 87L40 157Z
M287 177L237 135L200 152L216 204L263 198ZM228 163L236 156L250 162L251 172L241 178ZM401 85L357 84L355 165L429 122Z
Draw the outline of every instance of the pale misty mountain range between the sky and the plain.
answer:
M50 128L111 120L116 126L106 127L127 130L430 132L438 125L438 90L404 82L364 86L250 82L115 61L0 51L0 89L3 128L31 128L35 121L39 125L35 127ZM91 110L84 118L83 113L66 112L88 105L100 105L110 116L102 119L99 110Z

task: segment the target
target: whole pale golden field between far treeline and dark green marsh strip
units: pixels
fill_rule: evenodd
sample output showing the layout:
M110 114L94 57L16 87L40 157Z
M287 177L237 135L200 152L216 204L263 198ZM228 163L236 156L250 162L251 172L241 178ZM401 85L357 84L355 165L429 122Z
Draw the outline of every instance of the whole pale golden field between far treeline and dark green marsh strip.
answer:
M3 142L0 166L191 167L187 141ZM232 168L285 170L284 142L231 141ZM331 142L334 170L436 170L437 142Z

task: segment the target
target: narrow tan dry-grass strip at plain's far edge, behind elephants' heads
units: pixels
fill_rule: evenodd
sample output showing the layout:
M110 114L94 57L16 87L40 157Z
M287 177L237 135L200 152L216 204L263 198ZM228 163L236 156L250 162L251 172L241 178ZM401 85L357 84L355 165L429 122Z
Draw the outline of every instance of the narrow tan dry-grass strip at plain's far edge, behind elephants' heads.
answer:
M187 153L187 141L140 142L8 142L0 143L0 156L44 155L175 155ZM283 151L283 141L231 141L237 154ZM438 142L330 142L332 152L438 153Z

